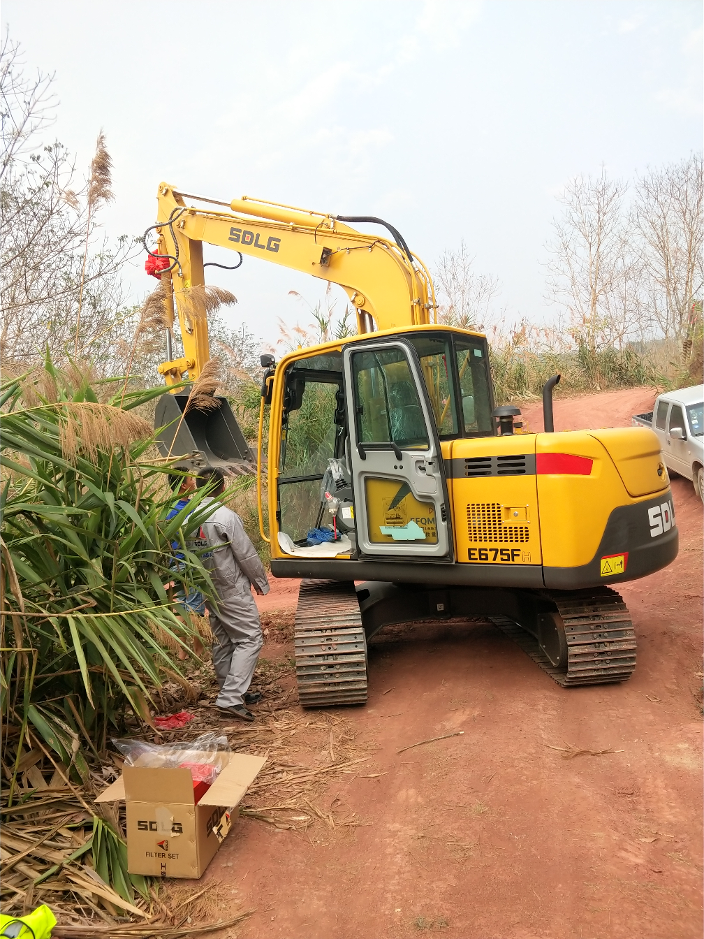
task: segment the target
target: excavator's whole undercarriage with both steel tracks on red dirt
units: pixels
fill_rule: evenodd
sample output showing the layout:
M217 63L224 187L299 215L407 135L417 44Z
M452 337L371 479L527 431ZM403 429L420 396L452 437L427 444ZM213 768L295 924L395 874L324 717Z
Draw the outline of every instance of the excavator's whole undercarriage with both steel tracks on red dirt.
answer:
M635 669L635 633L619 593L303 580L295 622L303 707L367 700L367 640L393 623L486 618L558 685L624 682Z

